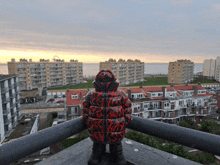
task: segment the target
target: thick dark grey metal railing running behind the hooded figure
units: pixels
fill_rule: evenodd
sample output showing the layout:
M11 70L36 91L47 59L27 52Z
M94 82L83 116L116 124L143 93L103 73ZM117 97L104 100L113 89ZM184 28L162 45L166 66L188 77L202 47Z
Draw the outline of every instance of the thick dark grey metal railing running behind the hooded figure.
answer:
M10 164L13 161L75 135L86 128L82 117L78 117L2 144L0 146L0 164ZM135 116L132 117L127 128L220 155L220 137L218 135ZM59 134L57 133L58 130Z

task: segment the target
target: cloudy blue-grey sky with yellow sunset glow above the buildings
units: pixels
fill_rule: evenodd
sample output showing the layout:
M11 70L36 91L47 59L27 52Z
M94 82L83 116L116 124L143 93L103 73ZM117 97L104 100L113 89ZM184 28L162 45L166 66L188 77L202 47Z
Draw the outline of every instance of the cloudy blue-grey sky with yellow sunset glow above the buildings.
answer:
M220 55L218 0L1 0L0 63L203 63ZM56 57L56 58L58 58Z

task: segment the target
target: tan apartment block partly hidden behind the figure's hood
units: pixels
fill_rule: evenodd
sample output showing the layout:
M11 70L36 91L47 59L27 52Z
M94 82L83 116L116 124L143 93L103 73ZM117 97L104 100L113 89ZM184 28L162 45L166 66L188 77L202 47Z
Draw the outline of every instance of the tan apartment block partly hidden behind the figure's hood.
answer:
M100 62L99 69L110 69L115 74L120 85L144 81L144 62L137 59L128 59L127 61L109 59L108 61Z

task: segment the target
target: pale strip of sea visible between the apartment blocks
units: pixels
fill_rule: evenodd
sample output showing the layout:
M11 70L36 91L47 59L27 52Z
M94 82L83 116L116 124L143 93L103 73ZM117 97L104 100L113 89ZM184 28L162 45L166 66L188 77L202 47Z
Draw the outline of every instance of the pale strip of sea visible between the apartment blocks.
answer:
M169 63L145 63L144 74L168 74ZM202 72L203 63L194 63L194 73ZM99 72L99 63L83 63L83 76ZM8 74L7 64L0 64L0 74Z

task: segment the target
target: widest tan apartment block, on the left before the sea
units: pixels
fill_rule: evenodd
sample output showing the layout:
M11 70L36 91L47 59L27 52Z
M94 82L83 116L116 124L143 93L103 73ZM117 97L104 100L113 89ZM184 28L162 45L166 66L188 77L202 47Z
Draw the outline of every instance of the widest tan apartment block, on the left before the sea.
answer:
M8 62L9 74L18 75L21 90L29 90L38 87L54 87L64 85L75 85L82 83L82 62L78 60L40 59L33 62L32 59L20 59L16 62L11 59Z

